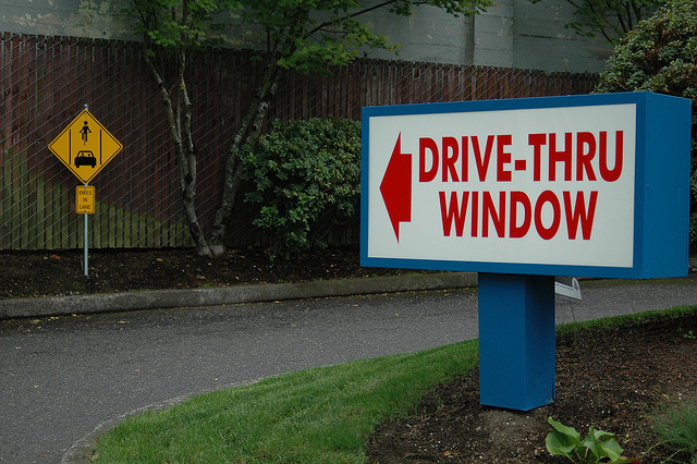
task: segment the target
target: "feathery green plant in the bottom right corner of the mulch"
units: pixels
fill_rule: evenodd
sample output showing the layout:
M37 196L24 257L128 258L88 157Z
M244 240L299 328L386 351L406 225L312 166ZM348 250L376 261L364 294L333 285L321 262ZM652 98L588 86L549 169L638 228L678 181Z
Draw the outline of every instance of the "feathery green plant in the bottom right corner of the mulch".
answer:
M673 406L652 418L659 443L673 455L687 454L690 463L697 464L697 402Z

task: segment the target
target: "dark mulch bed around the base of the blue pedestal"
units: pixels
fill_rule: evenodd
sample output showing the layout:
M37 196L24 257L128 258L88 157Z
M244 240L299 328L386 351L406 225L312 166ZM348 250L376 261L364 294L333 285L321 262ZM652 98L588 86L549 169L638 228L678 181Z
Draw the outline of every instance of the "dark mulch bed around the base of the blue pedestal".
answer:
M479 404L477 373L431 391L411 417L382 424L369 441L370 462L562 463L545 437L547 417L616 434L626 456L664 462L648 415L697 398L697 317L561 337L557 401L530 412ZM687 337L686 337L687 335ZM673 462L688 462L685 455Z

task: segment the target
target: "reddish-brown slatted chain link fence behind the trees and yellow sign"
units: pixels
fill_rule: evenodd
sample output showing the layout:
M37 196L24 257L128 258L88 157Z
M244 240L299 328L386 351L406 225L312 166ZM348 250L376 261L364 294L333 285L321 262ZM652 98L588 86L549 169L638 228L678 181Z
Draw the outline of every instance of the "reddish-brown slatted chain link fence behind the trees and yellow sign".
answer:
M82 246L83 222L74 212L81 182L48 145L85 105L124 147L91 182L90 247L192 245L167 118L139 45L9 33L0 39L0 249ZM189 68L204 230L261 71L250 52L221 49L197 53ZM375 105L585 94L596 82L592 74L359 60L330 76L284 75L267 123L359 120L362 107ZM253 213L237 202L231 246L258 243Z

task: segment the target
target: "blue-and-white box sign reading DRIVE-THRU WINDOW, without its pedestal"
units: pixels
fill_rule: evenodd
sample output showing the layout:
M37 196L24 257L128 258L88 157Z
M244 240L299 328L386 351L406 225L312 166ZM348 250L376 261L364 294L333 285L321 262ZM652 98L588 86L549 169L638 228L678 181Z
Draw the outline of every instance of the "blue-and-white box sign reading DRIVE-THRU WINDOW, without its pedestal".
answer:
M651 93L364 108L362 265L683 276L689 136Z

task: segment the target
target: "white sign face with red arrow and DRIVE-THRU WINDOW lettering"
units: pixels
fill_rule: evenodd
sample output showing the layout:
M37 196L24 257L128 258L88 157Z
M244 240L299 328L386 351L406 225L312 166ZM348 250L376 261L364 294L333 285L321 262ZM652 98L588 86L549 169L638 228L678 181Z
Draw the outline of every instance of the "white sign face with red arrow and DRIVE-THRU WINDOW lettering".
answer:
M631 268L636 119L635 103L370 115L366 257Z

